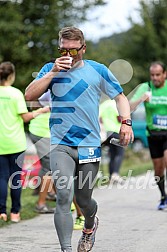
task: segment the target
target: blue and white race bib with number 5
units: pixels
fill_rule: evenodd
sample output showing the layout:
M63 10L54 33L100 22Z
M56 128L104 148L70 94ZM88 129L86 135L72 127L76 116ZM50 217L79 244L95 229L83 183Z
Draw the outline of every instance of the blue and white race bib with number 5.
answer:
M101 161L101 147L78 147L79 164Z

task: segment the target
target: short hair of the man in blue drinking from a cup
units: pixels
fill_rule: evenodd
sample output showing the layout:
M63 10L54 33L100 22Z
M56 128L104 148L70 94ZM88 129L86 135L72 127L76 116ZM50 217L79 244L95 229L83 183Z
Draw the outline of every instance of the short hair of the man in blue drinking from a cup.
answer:
M79 40L81 42L81 45L85 44L85 39L83 32L76 28L76 27L64 27L59 31L59 43L61 39L69 39L69 40Z

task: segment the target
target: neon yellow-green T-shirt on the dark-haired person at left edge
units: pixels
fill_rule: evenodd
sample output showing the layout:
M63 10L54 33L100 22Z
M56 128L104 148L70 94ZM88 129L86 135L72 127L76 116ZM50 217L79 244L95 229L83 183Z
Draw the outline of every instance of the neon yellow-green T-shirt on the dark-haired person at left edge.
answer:
M27 113L22 92L11 86L0 86L0 155L26 149L24 122L20 114Z

